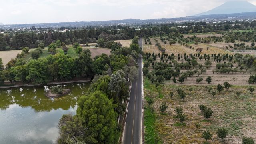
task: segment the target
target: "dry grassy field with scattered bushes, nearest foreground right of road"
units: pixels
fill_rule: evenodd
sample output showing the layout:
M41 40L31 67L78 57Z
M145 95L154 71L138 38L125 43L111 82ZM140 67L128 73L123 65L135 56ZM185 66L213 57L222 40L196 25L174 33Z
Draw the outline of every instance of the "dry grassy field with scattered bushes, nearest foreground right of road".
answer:
M186 92L186 98L182 102L176 90L182 88ZM190 92L189 88L193 88ZM216 85L212 86L216 90ZM216 136L218 128L226 128L228 136L224 140L225 144L240 144L242 136L250 136L256 140L256 96L250 94L248 86L232 86L228 90L217 92L216 98L209 94L204 86L179 86L172 84L162 84L156 88L149 80L144 78L145 99L152 98L154 112L148 108L145 102L145 141L147 144L190 144L203 143L201 135L204 130L210 130L213 134L211 144L219 144L220 139ZM168 93L174 92L171 99ZM236 91L242 92L236 96ZM162 93L162 96L159 95ZM162 114L159 106L166 102L167 112ZM206 120L198 105L204 104L214 111L213 116ZM174 108L181 106L186 121L181 124L175 117ZM199 130L194 122L201 122ZM158 139L160 137L160 140Z

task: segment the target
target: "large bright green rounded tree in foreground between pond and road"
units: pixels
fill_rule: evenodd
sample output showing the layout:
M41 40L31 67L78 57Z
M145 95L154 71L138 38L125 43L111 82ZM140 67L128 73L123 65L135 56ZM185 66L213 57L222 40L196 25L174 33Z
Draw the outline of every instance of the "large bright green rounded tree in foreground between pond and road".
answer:
M77 114L84 120L87 143L117 143L118 132L114 105L106 94L95 91L78 101Z

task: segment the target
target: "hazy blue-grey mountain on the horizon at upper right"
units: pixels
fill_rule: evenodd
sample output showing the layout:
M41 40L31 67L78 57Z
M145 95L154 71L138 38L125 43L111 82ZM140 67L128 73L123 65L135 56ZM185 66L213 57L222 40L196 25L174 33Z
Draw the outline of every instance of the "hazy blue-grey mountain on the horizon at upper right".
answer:
M243 12L256 12L256 6L247 1L229 1L207 12L196 14L195 16L210 14L234 14Z

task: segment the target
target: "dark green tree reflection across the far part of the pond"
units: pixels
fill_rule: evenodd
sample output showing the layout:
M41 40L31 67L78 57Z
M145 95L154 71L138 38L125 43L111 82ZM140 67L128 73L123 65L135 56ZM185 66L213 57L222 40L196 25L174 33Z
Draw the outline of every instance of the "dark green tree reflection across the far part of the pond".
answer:
M88 83L58 85L71 89L70 94L59 98L50 99L45 96L48 86L30 87L30 88L13 88L0 90L0 109L6 109L12 104L18 104L21 107L31 107L36 111L50 111L61 108L68 110L74 108L77 97L83 95L88 90Z

